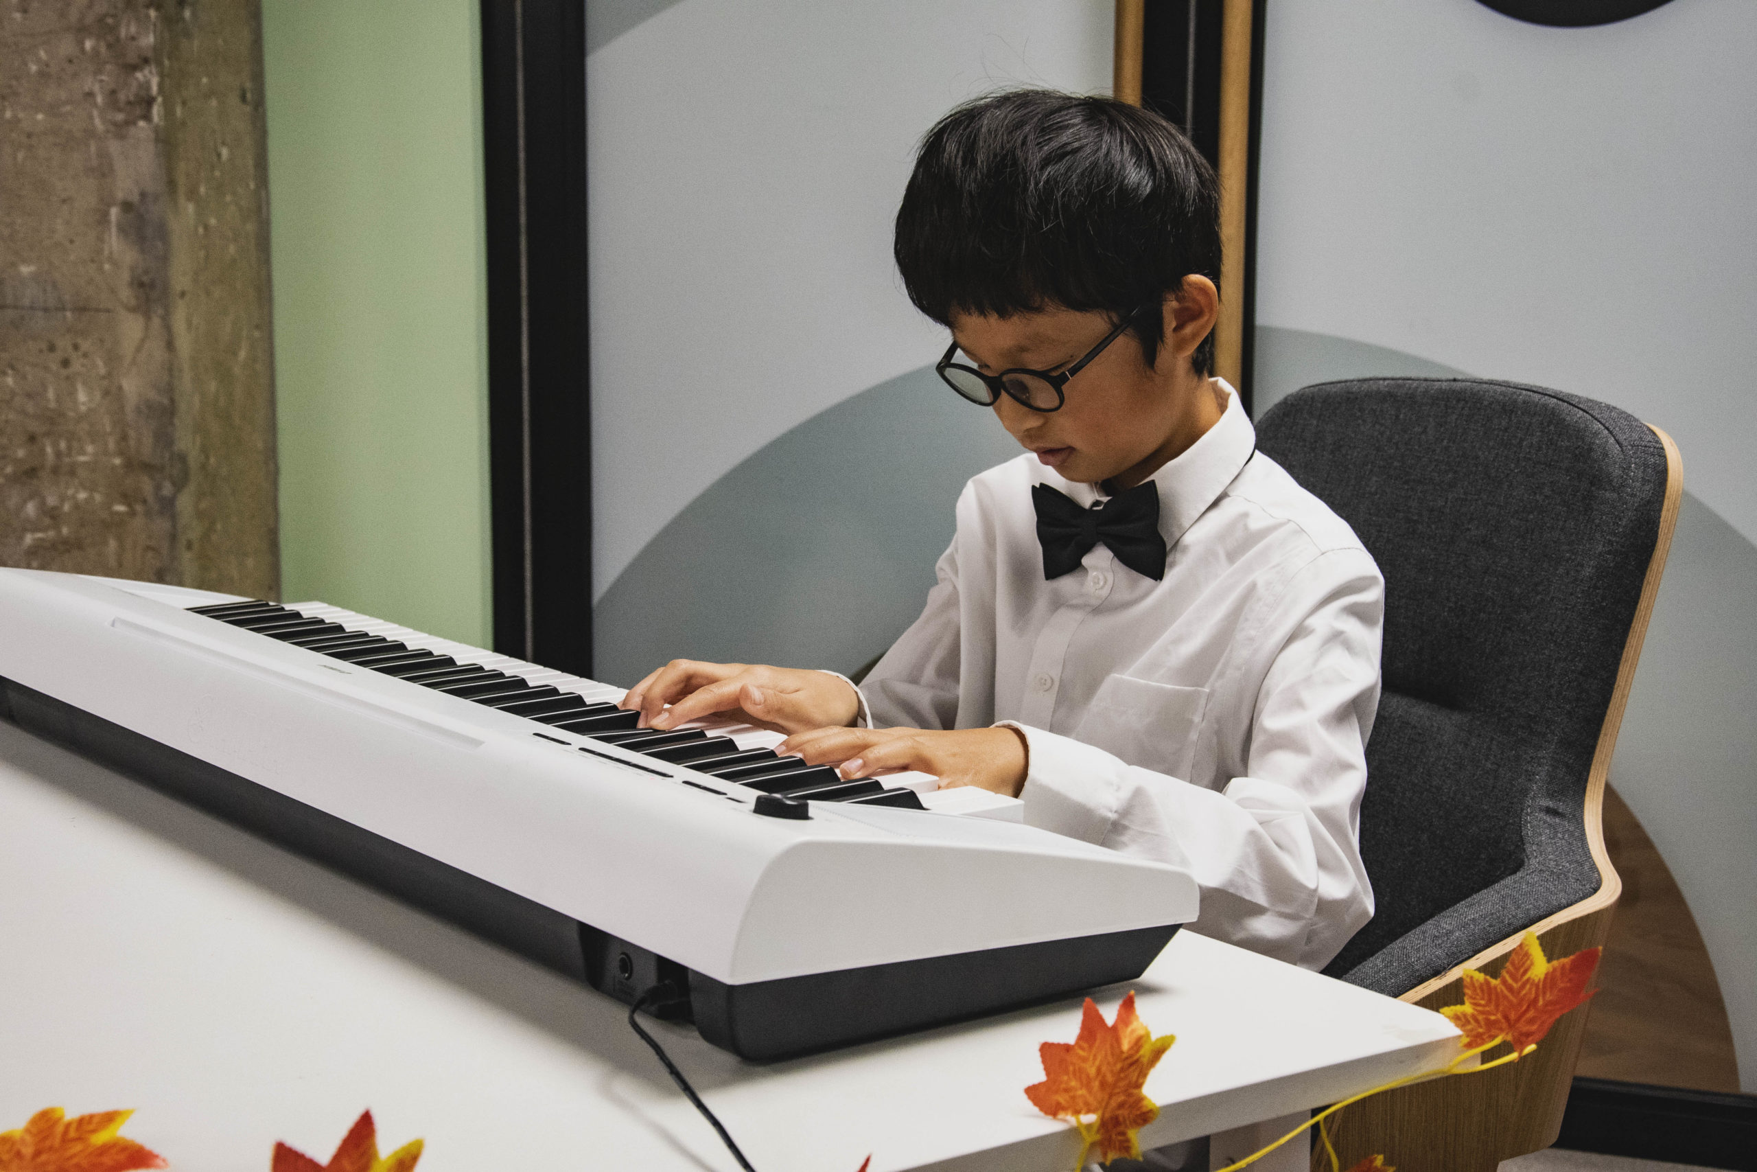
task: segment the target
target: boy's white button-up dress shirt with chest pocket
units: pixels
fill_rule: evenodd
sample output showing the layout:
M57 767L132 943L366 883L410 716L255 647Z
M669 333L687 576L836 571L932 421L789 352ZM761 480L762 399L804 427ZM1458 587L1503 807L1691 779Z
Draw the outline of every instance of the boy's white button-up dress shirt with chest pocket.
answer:
M1197 931L1321 968L1372 917L1360 861L1385 582L1267 455L1239 395L1153 474L1165 578L1100 543L1044 580L1031 453L970 480L921 619L863 685L875 726L1010 724L1024 819L1188 866Z

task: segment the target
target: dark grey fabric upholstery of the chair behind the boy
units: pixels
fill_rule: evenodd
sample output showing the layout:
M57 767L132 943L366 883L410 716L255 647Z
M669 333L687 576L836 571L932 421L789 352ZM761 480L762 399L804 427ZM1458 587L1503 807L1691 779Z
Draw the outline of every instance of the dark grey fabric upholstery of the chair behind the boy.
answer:
M1418 378L1307 387L1258 446L1385 573L1360 814L1376 914L1325 972L1397 996L1599 887L1587 777L1666 450L1592 399Z

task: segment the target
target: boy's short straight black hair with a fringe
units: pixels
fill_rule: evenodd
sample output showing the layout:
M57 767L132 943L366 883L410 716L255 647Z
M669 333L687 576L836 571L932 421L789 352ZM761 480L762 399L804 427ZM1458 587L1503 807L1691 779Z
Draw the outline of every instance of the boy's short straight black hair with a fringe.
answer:
M896 213L908 299L1012 316L1051 306L1121 323L1200 274L1219 283L1219 183L1182 132L1112 98L1014 90L966 102L921 141ZM1153 365L1163 318L1130 325ZM1214 369L1214 336L1191 355Z

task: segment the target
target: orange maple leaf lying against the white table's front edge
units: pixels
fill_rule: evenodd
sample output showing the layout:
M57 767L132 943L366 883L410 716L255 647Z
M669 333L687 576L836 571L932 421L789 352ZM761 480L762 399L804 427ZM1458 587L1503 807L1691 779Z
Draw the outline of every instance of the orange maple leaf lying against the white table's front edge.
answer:
M1160 1118L1160 1109L1140 1088L1175 1040L1170 1033L1156 1038L1140 1024L1133 993L1117 1007L1116 1023L1105 1023L1086 998L1079 1037L1072 1045L1044 1042L1038 1047L1047 1077L1024 1088L1024 1095L1045 1116L1066 1119L1079 1130L1077 1165L1086 1163L1093 1147L1107 1163L1119 1156L1139 1160L1135 1133Z

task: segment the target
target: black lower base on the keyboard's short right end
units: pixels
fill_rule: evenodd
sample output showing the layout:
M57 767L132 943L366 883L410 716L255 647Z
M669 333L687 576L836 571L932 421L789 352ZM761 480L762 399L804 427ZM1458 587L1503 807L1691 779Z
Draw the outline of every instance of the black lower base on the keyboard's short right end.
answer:
M724 984L689 973L696 1030L750 1061L980 1017L1133 980L1179 924L931 956L831 973Z

